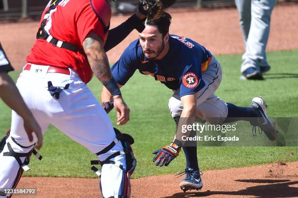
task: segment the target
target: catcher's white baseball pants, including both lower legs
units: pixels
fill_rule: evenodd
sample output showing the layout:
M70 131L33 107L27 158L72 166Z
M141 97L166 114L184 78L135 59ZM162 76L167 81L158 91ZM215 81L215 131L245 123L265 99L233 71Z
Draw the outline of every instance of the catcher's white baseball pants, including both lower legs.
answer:
M17 81L17 87L41 126L42 132L44 133L48 126L52 124L75 142L88 148L92 153L97 153L111 144L116 137L112 123L105 110L78 74L74 70L70 70L70 75L46 73L46 67L48 66L32 64L31 70L23 71ZM70 84L70 87L63 90L57 100L47 90L48 81L52 81L55 87L64 88L66 84ZM23 127L23 120L15 111L12 112L10 135L22 146L30 146L37 141L34 134L34 141L29 142ZM33 147L21 148L11 138L7 141L10 142L15 152L26 153ZM100 161L104 161L119 150L123 150L120 142L107 153L97 157ZM6 151L7 145L5 145L3 152ZM0 188L10 188L13 185L19 164L13 157L3 156L2 153L0 154ZM112 161L126 168L124 155L117 156ZM118 184L121 184L122 180L122 176L119 178L117 175L121 175L122 170L112 168L109 165L103 168L102 172L104 170L108 172L113 170L116 173L113 173L114 177L108 177L108 172L102 175L101 182L105 184L102 189L103 195L105 197L117 196L117 188L120 186Z

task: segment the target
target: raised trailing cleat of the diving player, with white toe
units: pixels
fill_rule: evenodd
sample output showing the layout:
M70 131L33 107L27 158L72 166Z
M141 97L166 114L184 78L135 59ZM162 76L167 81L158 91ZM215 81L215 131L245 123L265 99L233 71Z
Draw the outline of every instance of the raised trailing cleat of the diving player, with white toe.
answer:
M253 135L256 136L256 126L259 126L265 135L271 141L277 139L277 128L275 123L267 116L267 105L261 97L255 97L252 99L249 107L253 108L257 119L250 121L253 126Z

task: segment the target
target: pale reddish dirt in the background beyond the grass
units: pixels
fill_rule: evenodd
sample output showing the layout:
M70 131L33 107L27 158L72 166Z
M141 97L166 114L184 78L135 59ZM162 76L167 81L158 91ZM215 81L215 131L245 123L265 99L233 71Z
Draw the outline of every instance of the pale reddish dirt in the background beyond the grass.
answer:
M170 33L187 36L204 45L213 54L243 53L242 34L236 8L216 10L169 10L172 15ZM112 17L111 28L128 16ZM271 18L267 51L298 49L298 4L276 6ZM0 41L13 66L20 69L36 38L38 22L0 24ZM111 63L131 41L138 37L134 30L121 44L108 52Z

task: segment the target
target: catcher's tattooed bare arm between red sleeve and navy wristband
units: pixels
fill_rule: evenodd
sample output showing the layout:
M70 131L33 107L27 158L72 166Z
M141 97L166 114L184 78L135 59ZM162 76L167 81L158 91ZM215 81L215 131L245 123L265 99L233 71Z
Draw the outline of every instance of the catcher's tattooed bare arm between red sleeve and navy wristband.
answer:
M83 48L95 76L102 83L111 79L112 72L107 54L103 48L102 40L94 34L89 34L83 41Z

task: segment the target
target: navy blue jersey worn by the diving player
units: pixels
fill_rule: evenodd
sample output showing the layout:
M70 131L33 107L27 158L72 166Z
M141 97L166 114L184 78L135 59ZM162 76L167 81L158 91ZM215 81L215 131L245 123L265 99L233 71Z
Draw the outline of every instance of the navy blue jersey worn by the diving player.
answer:
M180 88L180 97L201 90L205 83L202 71L206 69L211 53L195 41L181 36L169 36L169 51L162 60L148 60L139 39L130 43L113 65L116 82L124 85L136 70L151 75L171 90Z

